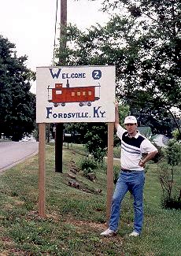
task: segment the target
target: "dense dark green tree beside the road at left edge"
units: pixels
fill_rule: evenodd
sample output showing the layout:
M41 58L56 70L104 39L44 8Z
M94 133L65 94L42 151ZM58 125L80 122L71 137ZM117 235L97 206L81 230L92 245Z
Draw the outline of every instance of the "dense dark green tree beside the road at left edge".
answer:
M35 73L25 65L27 56L17 57L15 45L0 35L0 135L19 140L35 125L35 95L30 80Z

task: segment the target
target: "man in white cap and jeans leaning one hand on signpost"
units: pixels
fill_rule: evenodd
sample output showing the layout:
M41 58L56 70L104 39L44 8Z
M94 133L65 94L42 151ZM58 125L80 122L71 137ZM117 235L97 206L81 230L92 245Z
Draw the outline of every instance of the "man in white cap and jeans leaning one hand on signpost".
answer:
M102 232L101 236L116 235L120 219L120 204L127 191L131 191L133 195L135 210L134 230L130 236L139 236L142 232L144 167L146 161L157 154L157 148L137 131L138 124L135 117L126 117L124 125L126 129L119 124L118 104L116 102L115 128L116 135L121 140L121 172L113 195L109 228ZM143 159L142 153L146 153L146 157Z

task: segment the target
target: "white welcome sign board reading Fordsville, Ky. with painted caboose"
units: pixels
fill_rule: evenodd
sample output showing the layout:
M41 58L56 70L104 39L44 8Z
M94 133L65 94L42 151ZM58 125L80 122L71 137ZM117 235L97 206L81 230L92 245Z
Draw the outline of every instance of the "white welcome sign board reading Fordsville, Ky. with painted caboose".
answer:
M38 67L36 122L114 122L115 66Z

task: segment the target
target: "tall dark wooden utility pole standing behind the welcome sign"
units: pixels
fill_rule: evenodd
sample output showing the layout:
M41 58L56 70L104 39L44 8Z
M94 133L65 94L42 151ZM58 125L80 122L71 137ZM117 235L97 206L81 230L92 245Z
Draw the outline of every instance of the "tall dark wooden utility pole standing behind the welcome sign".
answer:
M60 29L60 53L66 48L66 26L67 26L67 0L61 0L61 29ZM59 58L58 65L65 64L65 60ZM55 172L62 173L63 160L63 123L56 124L55 131Z

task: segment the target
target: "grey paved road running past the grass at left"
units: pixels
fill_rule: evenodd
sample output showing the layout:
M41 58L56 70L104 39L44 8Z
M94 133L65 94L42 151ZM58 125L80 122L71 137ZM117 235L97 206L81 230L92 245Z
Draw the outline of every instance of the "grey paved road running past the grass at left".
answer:
M38 150L39 143L36 142L0 142L0 173L37 154Z

